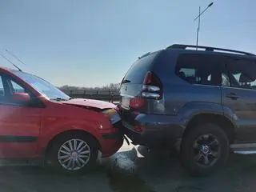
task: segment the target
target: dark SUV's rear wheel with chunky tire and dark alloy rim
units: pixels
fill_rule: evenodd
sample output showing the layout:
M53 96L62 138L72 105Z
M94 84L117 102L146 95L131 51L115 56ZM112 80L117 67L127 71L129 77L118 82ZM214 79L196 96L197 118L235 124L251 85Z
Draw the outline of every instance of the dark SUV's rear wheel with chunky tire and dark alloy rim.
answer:
M180 162L190 176L214 173L225 164L228 155L229 141L218 125L198 125L182 138Z

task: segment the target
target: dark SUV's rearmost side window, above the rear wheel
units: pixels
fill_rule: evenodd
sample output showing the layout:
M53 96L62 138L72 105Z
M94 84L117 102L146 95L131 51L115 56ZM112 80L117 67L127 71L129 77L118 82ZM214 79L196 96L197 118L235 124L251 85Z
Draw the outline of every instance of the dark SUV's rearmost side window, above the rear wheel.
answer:
M220 70L212 55L184 54L178 58L176 74L191 84L220 86Z

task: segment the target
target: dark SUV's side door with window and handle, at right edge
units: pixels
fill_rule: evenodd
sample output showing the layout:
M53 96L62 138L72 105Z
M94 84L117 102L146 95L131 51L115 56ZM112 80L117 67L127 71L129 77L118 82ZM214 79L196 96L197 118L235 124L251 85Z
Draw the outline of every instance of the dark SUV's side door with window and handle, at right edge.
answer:
M256 142L256 62L226 58L222 70L222 106L234 114L237 142Z

